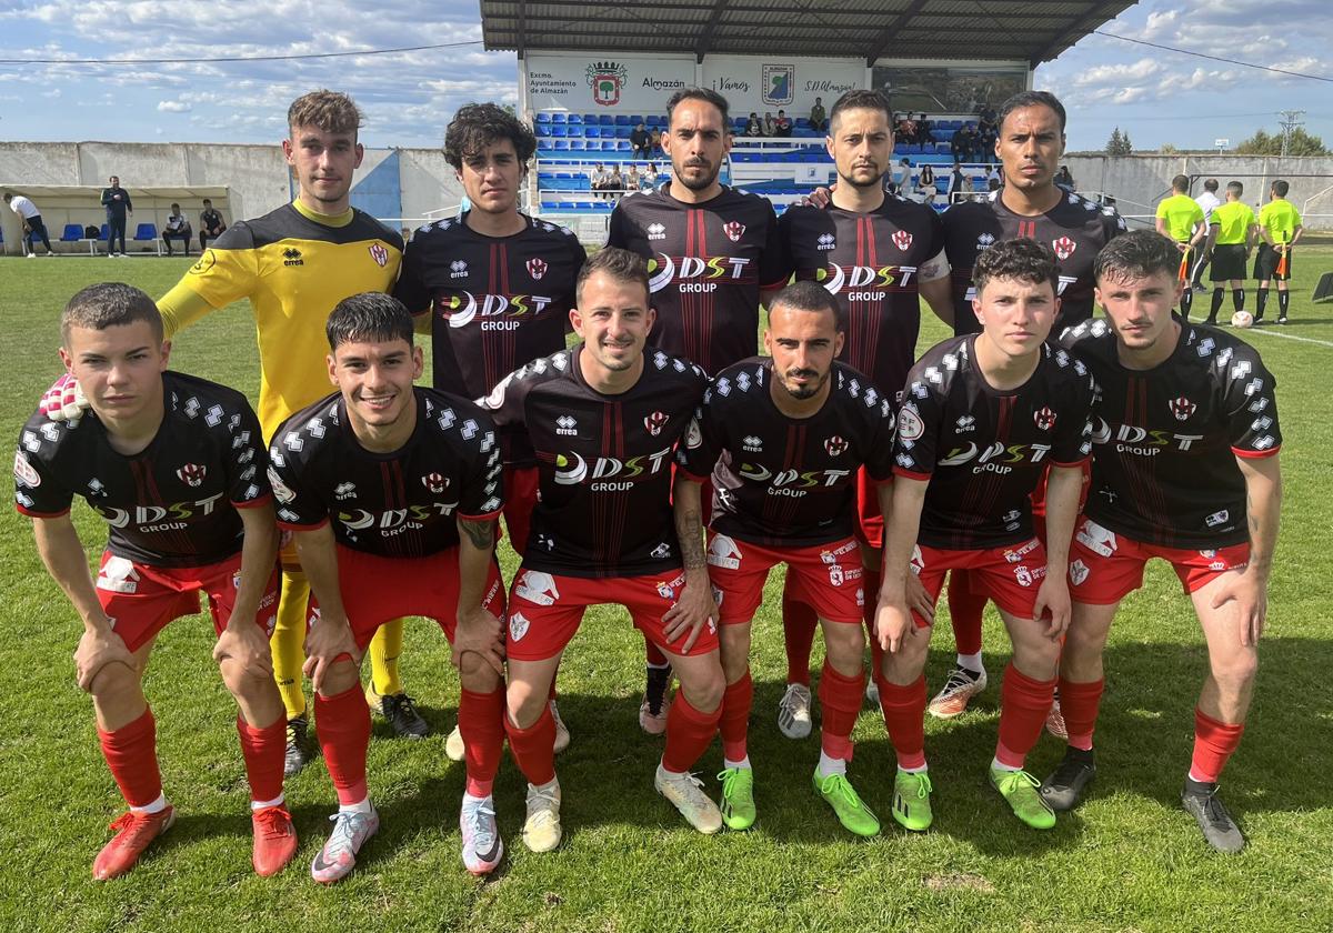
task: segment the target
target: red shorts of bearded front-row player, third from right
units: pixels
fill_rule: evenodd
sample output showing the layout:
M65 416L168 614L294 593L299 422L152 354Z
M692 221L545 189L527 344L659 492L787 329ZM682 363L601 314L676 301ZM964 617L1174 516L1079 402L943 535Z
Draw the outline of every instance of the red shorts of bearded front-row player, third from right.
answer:
M813 548L765 548L708 533L708 576L722 625L754 618L774 564L786 564L792 593L830 622L861 624L865 605L861 545L856 538Z

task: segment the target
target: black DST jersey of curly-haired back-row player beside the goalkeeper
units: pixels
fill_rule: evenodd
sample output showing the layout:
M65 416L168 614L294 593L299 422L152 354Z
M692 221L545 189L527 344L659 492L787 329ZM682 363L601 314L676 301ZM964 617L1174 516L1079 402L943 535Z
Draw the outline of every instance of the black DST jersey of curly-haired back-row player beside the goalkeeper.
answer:
M393 296L413 313L431 312L435 388L480 399L524 363L564 349L588 255L569 228L523 219L519 233L492 237L464 215L408 243ZM531 465L532 451L505 449L504 459Z

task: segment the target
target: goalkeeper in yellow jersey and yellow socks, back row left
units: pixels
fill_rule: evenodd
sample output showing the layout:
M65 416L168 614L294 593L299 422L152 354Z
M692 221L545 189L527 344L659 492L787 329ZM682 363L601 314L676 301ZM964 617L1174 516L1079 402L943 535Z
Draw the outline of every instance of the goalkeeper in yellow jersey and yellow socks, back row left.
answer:
M361 112L351 97L315 91L288 111L283 155L296 173L296 200L229 227L157 303L167 336L200 317L249 299L260 356L259 419L265 440L292 413L329 393L324 324L343 299L389 292L399 277L403 237L351 207L352 175L364 149ZM287 773L313 756L301 684L309 584L295 548L283 549L283 594L273 632L273 673L287 706ZM428 726L403 690L399 654L403 620L371 642L367 700L400 736Z

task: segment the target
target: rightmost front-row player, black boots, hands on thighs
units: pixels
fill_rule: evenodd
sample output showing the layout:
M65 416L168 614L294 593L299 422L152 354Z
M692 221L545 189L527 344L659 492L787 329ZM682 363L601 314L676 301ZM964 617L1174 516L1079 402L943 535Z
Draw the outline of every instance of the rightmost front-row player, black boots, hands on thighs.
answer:
M1172 316L1177 253L1148 231L1097 257L1106 320L1060 343L1098 389L1092 494L1069 564L1073 621L1060 665L1069 748L1042 785L1056 810L1096 773L1093 728L1102 650L1120 601L1153 557L1170 562L1194 605L1209 670L1194 708L1194 754L1181 801L1220 852L1245 845L1217 778L1245 729L1268 613L1281 472L1273 375L1252 347Z

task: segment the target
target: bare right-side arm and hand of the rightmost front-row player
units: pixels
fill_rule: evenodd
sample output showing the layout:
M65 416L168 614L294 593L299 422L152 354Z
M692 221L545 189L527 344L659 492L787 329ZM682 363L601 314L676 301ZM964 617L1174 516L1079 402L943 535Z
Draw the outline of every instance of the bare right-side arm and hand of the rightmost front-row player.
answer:
M1278 513L1282 509L1282 473L1278 455L1270 457L1236 457L1245 477L1245 509L1249 518L1250 556L1242 573L1230 578L1213 594L1212 608L1221 609L1236 601L1241 614L1241 644L1257 645L1268 618L1268 578L1273 570L1277 546Z

